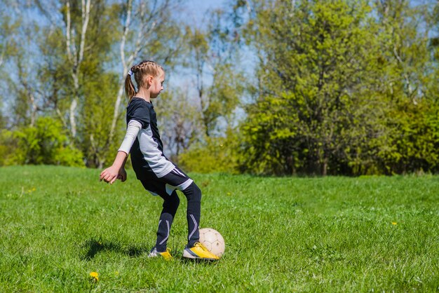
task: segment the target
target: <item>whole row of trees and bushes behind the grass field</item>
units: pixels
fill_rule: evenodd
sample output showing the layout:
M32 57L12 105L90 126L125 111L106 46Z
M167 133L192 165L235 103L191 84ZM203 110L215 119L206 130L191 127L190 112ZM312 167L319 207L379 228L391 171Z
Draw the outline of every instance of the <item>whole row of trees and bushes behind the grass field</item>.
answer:
M144 58L168 155L194 172L439 170L437 1L1 1L0 165L102 168ZM168 77L167 77L168 78Z

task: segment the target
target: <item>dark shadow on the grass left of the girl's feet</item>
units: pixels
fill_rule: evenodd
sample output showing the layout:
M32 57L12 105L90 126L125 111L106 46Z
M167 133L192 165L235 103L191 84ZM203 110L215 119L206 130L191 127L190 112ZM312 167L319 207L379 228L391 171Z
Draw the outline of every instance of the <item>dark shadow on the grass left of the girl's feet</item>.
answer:
M96 254L106 251L127 254L130 257L138 257L141 254L149 252L147 247L121 247L121 245L117 243L112 243L102 239L97 240L95 238L87 240L86 243L84 243L83 247L86 250L86 254L83 256L83 259L86 260L93 259Z

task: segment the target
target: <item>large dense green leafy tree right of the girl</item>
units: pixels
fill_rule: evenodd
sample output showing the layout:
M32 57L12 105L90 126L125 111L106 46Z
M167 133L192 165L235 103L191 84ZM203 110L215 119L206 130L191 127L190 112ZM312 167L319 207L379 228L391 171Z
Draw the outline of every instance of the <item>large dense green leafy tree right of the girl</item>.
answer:
M346 168L346 148L370 55L363 1L259 3L248 38L259 55L257 102L248 107L244 168L326 175ZM270 20L267 22L266 20Z

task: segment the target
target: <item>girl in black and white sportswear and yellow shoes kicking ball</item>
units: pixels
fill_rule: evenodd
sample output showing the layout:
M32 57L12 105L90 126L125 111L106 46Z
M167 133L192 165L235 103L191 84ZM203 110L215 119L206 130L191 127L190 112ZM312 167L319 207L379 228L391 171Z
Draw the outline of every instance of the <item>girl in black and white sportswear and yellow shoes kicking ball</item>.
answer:
M137 83L137 92L131 76ZM126 111L127 130L114 163L100 174L100 180L113 184L116 179L126 181L125 163L128 154L137 179L144 189L154 196L163 198L163 210L158 220L156 245L149 252L149 257L171 259L166 247L170 227L175 212L180 204L176 190L187 198L187 246L183 257L189 259L217 260L200 242L198 224L201 214L201 190L182 170L177 168L163 154L163 143L158 134L156 112L151 100L158 97L163 90L165 71L153 61L142 61L131 67L125 79L125 93L129 99Z

